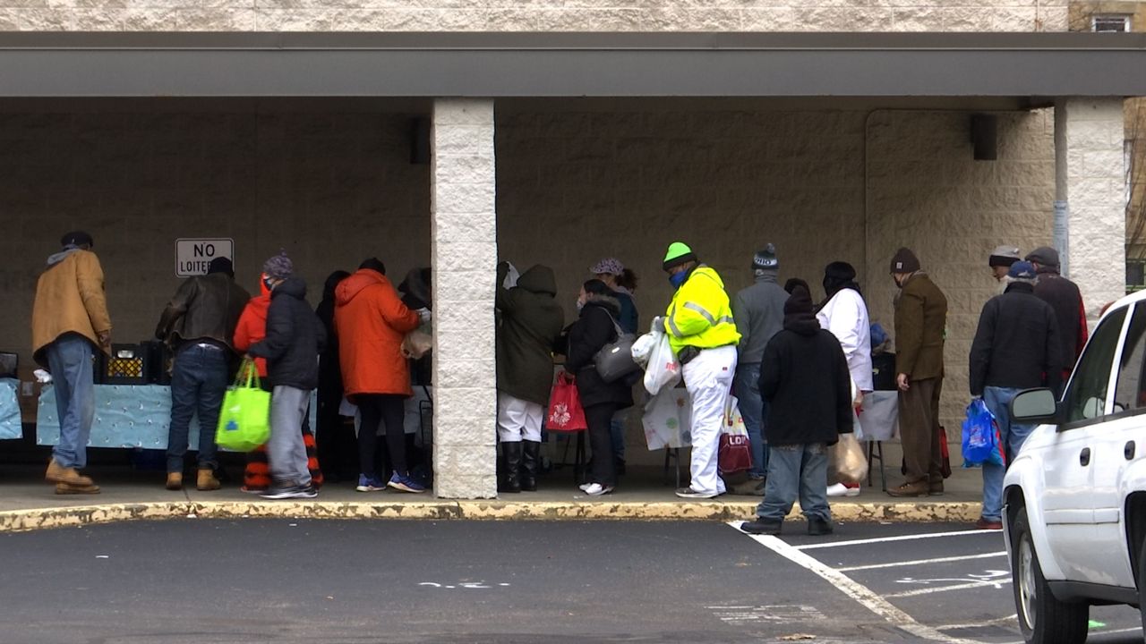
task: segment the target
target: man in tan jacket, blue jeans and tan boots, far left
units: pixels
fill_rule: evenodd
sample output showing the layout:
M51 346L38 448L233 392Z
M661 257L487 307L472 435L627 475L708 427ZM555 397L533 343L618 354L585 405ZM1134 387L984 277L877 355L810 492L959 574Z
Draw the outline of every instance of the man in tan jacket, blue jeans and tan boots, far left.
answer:
M100 487L78 470L87 464L87 438L95 416L92 355L111 348L111 319L103 268L84 231L60 239L63 250L48 258L32 305L32 358L52 372L60 416L60 442L45 478L56 494L96 494Z

